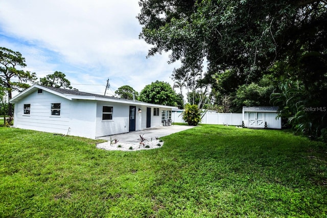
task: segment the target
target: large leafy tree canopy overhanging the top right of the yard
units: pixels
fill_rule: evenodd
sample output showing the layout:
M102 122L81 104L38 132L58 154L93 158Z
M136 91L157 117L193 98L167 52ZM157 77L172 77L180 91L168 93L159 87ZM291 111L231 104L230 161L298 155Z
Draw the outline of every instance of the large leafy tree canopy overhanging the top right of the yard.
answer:
M182 62L179 73L201 70L205 58L209 75L237 68L239 77L252 82L274 61L296 59L302 45L325 50L317 47L326 44L324 1L139 0L139 5L140 37L153 45L149 55L172 51L171 61Z

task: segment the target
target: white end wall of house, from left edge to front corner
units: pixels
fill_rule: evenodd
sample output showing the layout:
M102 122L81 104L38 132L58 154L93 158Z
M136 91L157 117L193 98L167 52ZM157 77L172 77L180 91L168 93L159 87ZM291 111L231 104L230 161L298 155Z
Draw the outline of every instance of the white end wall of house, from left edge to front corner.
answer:
M60 116L51 115L51 103L60 103ZM24 104L31 104L29 115L24 114ZM96 106L92 101L70 101L35 91L15 104L14 127L95 138Z

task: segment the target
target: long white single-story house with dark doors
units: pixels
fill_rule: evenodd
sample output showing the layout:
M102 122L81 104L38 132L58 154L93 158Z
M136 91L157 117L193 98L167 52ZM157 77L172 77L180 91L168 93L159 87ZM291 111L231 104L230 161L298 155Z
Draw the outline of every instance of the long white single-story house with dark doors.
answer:
M162 126L172 106L33 85L10 100L14 127L96 138Z

